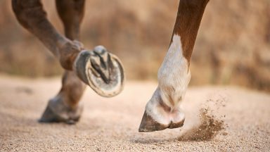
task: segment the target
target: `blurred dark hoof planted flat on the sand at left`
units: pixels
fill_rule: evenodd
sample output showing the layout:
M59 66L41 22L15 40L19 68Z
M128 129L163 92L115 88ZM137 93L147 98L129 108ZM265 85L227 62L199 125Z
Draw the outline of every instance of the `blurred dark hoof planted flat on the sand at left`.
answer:
M82 113L82 107L68 108L62 101L49 101L39 122L65 122L75 124L79 121Z

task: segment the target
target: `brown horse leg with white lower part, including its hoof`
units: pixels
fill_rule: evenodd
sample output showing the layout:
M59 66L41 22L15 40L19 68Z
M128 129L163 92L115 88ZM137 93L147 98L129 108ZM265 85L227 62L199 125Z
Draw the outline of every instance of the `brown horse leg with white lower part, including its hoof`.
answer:
M146 104L139 132L182 127L181 109L191 80L189 62L208 0L181 0L167 55L158 70L158 88Z

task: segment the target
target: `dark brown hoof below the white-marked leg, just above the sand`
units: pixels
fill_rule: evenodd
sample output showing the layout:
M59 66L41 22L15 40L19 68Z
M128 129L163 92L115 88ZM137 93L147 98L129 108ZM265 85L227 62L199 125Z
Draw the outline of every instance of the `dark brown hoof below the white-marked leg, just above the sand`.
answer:
M141 125L139 127L139 132L155 132L163 129L173 129L177 127L182 127L184 125L185 120L181 120L180 122L169 122L169 124L160 124L159 122L153 120L153 118L148 115L146 112L143 114L143 118L141 120Z

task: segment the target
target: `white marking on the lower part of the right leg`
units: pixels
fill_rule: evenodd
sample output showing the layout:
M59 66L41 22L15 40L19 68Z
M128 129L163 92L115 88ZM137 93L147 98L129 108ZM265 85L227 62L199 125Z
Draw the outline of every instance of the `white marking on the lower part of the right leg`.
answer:
M168 125L184 119L180 103L184 99L186 88L191 80L188 61L183 56L181 38L174 34L172 44L169 46L165 59L158 70L158 89L146 105L146 113L161 124ZM174 114L167 113L160 108L159 98L166 106L175 111Z

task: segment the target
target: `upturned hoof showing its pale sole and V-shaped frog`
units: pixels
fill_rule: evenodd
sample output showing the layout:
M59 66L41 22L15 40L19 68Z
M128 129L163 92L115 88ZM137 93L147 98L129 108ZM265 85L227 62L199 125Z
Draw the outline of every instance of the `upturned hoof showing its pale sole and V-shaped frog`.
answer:
M124 87L120 59L103 46L96 46L94 51L81 51L74 66L78 77L101 96L116 96Z

